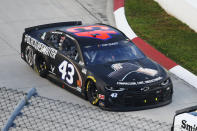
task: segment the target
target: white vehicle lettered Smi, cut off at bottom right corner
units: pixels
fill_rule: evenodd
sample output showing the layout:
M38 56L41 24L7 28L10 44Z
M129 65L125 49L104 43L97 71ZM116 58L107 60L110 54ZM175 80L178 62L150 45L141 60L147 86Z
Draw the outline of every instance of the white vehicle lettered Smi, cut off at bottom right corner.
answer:
M197 131L197 106L177 111L171 131Z

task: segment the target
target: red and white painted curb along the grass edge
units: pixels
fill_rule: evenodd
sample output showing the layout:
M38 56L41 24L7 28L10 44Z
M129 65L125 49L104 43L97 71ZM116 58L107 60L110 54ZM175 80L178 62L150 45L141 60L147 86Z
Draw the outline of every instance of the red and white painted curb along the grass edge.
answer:
M168 69L172 74L197 88L197 76L176 64L134 33L125 17L124 0L114 0L114 17L117 28L125 33L125 35L131 39L133 43L146 54L146 56Z

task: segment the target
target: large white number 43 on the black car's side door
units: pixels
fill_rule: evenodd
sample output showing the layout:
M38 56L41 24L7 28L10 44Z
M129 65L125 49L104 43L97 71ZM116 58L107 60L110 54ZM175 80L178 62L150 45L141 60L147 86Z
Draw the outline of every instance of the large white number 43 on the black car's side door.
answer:
M73 76L75 74L75 68L72 64L68 63L67 61L63 61L59 65L59 72L62 73L61 78L66 80L69 84L73 84Z

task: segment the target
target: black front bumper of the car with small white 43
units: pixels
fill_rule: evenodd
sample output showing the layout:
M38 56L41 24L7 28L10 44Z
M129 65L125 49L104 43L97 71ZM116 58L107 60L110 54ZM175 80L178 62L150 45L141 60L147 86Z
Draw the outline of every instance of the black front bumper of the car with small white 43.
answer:
M113 111L150 109L171 103L172 94L172 84L138 93L128 90L106 91L105 99L100 100L99 105L104 110Z

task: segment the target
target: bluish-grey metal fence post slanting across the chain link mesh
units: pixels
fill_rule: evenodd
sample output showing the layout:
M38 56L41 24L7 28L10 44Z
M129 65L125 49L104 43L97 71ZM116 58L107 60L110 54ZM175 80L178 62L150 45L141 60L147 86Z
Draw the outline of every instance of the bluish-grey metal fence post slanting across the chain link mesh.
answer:
M9 117L8 121L4 125L2 131L8 131L8 129L13 125L14 120L16 119L16 116L20 113L20 111L23 109L23 107L27 104L28 100L36 93L35 88L31 88L27 95L17 104L14 111L12 112L11 116Z

